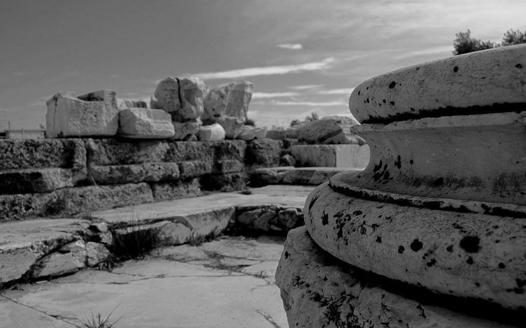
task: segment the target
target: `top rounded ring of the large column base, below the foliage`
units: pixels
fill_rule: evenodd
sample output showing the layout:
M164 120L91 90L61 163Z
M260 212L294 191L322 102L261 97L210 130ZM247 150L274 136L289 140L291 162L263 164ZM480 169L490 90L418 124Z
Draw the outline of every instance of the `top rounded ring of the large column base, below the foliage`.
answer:
M510 111L523 110L524 67L526 45L428 61L361 83L351 94L349 108L362 123L483 113L491 111L485 107L503 104L511 106Z

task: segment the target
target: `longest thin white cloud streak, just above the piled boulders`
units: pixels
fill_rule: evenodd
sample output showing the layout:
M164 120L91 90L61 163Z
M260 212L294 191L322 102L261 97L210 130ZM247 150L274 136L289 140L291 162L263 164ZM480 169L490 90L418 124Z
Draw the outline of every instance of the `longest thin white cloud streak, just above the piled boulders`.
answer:
M222 72L206 72L189 74L203 80L213 79L235 79L244 78L248 76L261 76L261 75L284 75L288 73L299 73L305 71L317 71L324 68L328 68L330 64L335 61L334 57L329 57L321 61L308 62L306 64L299 65L286 65L286 66L268 66L268 67L251 67L242 69L233 69Z

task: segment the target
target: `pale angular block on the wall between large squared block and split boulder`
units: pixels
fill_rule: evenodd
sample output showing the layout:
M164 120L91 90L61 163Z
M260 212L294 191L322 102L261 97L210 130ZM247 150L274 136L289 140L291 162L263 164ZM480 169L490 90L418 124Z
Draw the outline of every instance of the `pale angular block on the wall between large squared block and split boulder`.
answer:
M119 112L118 134L131 139L165 139L175 134L169 113L160 109L128 108Z

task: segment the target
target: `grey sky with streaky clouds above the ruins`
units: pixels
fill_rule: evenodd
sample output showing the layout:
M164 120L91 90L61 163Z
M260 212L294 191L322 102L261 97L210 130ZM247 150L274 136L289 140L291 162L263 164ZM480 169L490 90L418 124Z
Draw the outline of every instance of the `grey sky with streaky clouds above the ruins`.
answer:
M350 115L361 82L449 57L459 31L500 41L524 0L0 0L0 120L45 125L59 91L149 99L165 77L254 83L248 117Z

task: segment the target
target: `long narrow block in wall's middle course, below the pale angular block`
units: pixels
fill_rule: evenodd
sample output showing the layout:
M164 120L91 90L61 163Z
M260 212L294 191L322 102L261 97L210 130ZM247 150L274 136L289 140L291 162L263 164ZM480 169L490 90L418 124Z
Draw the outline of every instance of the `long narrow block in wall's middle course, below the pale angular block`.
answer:
M88 182L103 185L169 181L178 178L179 167L176 163L92 165L88 171Z

